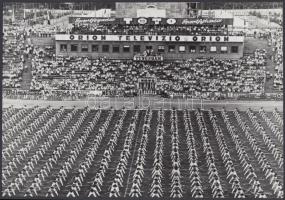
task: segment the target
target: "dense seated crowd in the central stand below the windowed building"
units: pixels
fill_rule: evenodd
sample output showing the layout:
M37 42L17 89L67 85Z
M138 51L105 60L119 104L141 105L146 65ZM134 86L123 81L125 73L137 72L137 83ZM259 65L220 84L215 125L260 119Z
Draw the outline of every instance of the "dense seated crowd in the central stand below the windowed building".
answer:
M264 89L265 53L256 50L241 61L200 58L150 64L74 57L46 62L43 51L35 50L31 90L102 90L105 95L134 96L138 80L152 77L157 79L155 93L166 96L260 93Z

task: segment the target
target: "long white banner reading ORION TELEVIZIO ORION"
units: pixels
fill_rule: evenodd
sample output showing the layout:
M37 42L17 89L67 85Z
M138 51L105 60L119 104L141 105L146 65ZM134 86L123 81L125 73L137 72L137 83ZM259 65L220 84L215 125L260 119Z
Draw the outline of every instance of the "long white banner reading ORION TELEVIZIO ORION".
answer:
M56 41L116 41L116 42L243 42L243 36L189 35L55 35Z

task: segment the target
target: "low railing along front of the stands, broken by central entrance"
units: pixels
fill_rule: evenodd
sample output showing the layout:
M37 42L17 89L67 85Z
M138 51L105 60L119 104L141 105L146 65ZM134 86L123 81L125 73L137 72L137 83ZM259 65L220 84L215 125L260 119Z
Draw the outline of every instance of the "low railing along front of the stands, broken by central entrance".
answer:
M134 90L133 94L128 94L118 90L101 90L100 92L93 93L94 90L43 90L43 91L30 91L21 89L7 89L2 91L3 98L7 99L28 99L28 100L50 100L50 101L75 101L75 100L90 100L96 97L135 97L138 96L138 91ZM134 95L136 94L136 95ZM211 95L203 96L189 95L184 93L176 93L164 96L169 99L188 99L199 98L208 100L283 100L283 93L221 93L219 95L214 92ZM153 94L157 95L157 94ZM160 96L160 95L158 95Z

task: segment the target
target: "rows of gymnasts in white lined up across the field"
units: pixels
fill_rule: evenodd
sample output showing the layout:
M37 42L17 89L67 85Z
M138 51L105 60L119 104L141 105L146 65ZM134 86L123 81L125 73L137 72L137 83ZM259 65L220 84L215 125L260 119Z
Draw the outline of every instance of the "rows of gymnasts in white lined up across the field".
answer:
M153 117L154 112L157 112L157 118ZM217 112L220 112L223 122L218 119ZM145 113L142 126L138 126L140 113ZM283 166L283 152L278 150L282 149L282 134L276 130L276 127L281 128L282 120L276 109L272 114L272 118L269 119L266 116L267 112L262 108L255 114L250 109L247 111L235 109L234 112L227 112L225 109L222 111L197 109L192 114L188 110L172 109L170 116L166 117L166 111L162 109L158 111L122 109L116 114L117 120L113 124L112 120L115 119L113 109L93 111L90 107L83 109L63 107L54 109L50 106L23 109L10 107L3 114L6 120L2 150L2 196L12 197L24 192L25 197L62 195L78 197L82 194L98 197L102 196L104 190L109 197L120 197L124 188L130 197L142 197L146 194L150 197L163 198L169 194L172 198L181 198L186 196L185 190L190 187L194 198L206 196L222 198L228 195L235 198L249 196L283 198L283 175L277 170ZM249 118L248 121L245 121L246 116ZM264 123L259 123L257 117L264 119ZM181 122L184 122L185 132L178 129L181 119ZM198 126L192 125L193 120ZM98 134L92 135L92 130L99 121L101 122L97 127ZM168 122L169 141L165 138L167 136L165 124ZM113 128L108 134L110 124L113 124ZM224 128L221 127L222 124L225 124ZM212 128L209 129L209 126ZM123 127L127 130L125 134ZM140 142L132 147L138 134L135 131L137 128L141 130ZM270 131L262 133L266 128L270 128ZM214 135L210 136L212 130ZM180 131L185 134L186 141L180 139L182 137ZM200 133L199 136L194 135L195 131ZM49 132L51 133L47 134ZM153 136L152 132L155 133ZM225 132L229 135L226 136ZM155 138L155 141L150 143L150 137ZM88 138L90 138L88 148L84 151ZM103 144L103 138L107 138L108 142ZM232 153L233 151L227 146L229 138L234 143L233 148L236 153ZM118 142L121 139L123 142ZM197 139L199 141L196 141ZM213 139L218 143L217 148L212 148ZM277 140L278 144L272 143ZM165 145L168 142L171 146L169 150L171 160L168 162L170 165L165 166ZM202 143L202 149L196 146L197 142ZM247 143L249 145L245 146ZM183 145L186 145L186 148ZM137 151L131 151L132 148L137 148ZM103 150L100 156L97 154L101 151L99 149ZM153 156L152 166L146 165L146 153L150 149ZM119 157L114 155L116 150L120 151ZM191 185L187 187L181 183L181 179L189 179L182 176L180 155L183 151L188 152L186 155L188 155ZM202 151L206 166L201 163L200 156L197 156ZM126 177L129 177L128 163L134 152L137 152L136 160L132 162L134 170L128 179L130 182L124 182ZM217 153L220 153L220 156L216 157ZM235 155L232 157L233 154ZM79 155L83 157L79 158ZM116 167L113 169L114 173L109 173L110 162L114 156L117 159ZM94 162L96 159L99 159L99 162ZM239 169L236 168L237 163L240 163ZM223 174L220 165L224 165L226 175ZM86 190L87 173L91 168L96 174L92 178L91 186L88 186L89 190ZM202 168L204 169L201 171ZM146 177L145 173L150 173L151 176ZM168 186L165 185L166 176L170 178ZM107 181L107 177L110 181ZM147 191L142 190L146 178L151 178L151 184L144 186L148 188ZM210 193L204 190L207 187L204 185L206 179L209 181ZM264 187L265 182L269 183L270 188ZM249 188L245 188L247 183L250 184ZM130 187L126 187L126 184L130 184Z

